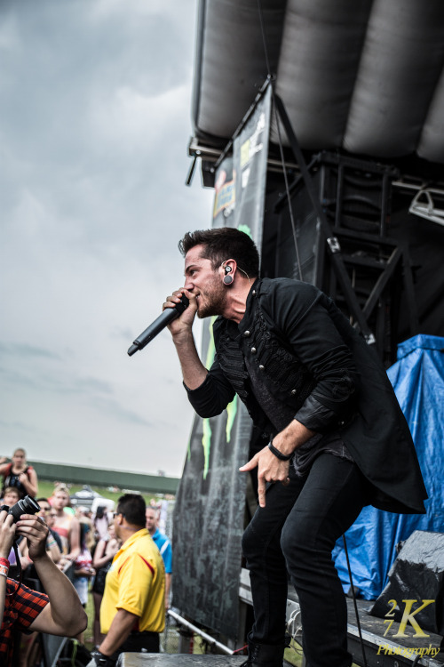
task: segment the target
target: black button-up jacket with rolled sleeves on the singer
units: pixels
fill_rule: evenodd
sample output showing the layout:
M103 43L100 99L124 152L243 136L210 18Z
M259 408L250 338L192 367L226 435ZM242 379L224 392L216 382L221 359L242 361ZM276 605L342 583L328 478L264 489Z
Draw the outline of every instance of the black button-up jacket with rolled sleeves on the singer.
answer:
M217 356L188 398L197 414L220 414L237 393L267 435L272 424L250 390L243 357L307 429L338 430L372 486L372 504L424 512L427 497L408 424L377 354L329 297L288 278L257 280L242 322L218 317Z

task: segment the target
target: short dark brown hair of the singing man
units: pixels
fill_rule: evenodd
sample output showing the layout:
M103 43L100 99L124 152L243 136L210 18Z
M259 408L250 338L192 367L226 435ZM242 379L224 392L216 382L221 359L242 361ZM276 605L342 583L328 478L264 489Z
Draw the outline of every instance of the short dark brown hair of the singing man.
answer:
M201 257L210 260L217 269L226 260L235 260L250 277L259 275L259 253L253 240L245 232L234 227L187 231L178 242L178 249L185 257L194 245L203 245Z

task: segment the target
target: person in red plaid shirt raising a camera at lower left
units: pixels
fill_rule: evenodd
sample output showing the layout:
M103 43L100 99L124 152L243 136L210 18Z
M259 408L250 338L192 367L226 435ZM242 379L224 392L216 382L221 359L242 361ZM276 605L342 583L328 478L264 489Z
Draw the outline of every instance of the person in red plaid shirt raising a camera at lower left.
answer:
M17 535L28 542L46 593L32 591L8 577L8 554ZM46 552L48 528L42 518L23 514L17 523L6 510L0 511L0 664L12 664L12 632L38 631L73 637L88 623L74 586L54 565Z

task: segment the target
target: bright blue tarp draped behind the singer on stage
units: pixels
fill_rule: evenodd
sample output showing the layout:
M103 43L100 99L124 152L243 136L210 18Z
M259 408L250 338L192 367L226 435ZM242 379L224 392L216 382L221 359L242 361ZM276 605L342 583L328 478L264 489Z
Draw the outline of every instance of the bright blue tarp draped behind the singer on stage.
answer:
M393 514L365 507L345 534L353 585L377 599L396 558L396 544L414 530L444 533L444 338L417 335L400 344L387 374L408 421L429 499L426 514ZM334 550L344 585L350 578L342 538Z

